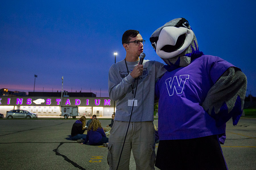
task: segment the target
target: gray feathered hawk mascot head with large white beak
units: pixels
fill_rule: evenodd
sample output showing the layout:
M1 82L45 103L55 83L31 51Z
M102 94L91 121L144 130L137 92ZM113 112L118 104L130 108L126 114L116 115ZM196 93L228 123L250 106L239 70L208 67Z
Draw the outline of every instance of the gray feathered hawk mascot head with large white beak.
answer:
M197 39L189 22L177 18L158 28L150 37L156 54L167 65L185 67L195 58L203 55L199 51Z

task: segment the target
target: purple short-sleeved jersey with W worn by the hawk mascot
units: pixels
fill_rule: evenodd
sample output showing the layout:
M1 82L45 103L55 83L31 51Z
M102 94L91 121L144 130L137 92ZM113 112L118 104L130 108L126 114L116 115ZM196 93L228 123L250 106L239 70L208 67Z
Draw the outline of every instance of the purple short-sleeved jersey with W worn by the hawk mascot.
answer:
M234 65L203 55L188 66L167 71L157 82L159 98L158 125L160 140L191 139L223 134L225 129L202 107L206 92L218 78Z

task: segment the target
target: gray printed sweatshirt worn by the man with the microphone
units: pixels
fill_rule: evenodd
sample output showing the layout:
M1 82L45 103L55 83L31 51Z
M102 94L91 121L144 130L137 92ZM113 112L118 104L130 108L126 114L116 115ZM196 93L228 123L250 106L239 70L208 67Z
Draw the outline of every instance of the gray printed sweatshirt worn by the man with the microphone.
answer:
M132 87L136 91L137 78L130 73L139 61L128 62L125 60L113 64L108 74L108 93L110 99L116 101L115 120L129 122L132 106L128 106L128 99L133 99ZM145 122L154 120L154 91L155 80L166 72L164 64L158 61L143 61L143 74L139 76L139 82L135 100L138 106L133 108L131 122Z

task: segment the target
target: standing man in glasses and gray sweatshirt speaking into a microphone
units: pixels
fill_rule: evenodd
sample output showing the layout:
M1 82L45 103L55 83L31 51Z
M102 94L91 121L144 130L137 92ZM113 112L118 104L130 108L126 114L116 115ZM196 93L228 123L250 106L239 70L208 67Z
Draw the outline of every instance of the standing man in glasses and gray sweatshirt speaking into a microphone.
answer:
M166 70L164 64L157 61L144 60L143 64L139 64L144 43L145 40L139 31L125 31L122 37L122 44L126 50L125 59L113 64L109 70L109 96L117 101L108 145L110 170L117 169L126 132L127 137L118 169L129 169L131 149L137 170L154 169L154 87L155 80Z

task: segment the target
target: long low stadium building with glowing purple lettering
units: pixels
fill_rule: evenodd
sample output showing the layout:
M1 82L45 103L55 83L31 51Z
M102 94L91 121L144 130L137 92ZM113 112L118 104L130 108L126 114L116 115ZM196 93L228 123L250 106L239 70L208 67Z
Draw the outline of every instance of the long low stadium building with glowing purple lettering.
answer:
M3 91L3 89L1 89ZM7 90L8 92L8 90ZM109 97L96 97L94 93L82 92L28 92L28 95L0 96L0 113L6 113L13 109L26 110L38 114L38 116L59 116L62 107L78 107L78 113L82 116L109 116L114 112L114 101Z

